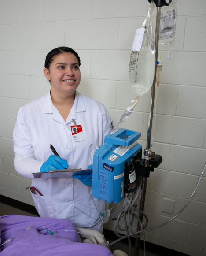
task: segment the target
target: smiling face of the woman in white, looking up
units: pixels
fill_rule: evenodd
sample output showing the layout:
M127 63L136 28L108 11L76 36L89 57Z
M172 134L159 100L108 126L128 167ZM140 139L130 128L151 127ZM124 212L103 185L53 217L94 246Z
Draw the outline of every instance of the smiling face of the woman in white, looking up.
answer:
M81 81L77 57L71 52L55 56L49 70L44 68L45 77L51 82L51 92L72 96Z

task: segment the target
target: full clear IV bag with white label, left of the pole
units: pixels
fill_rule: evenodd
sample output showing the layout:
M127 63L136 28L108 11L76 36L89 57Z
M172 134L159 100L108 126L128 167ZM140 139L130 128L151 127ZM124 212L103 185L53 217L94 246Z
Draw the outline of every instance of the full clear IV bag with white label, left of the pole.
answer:
M147 93L151 89L154 79L155 52L152 27L152 11L154 6L155 4L152 1L150 6L147 7L147 15L140 29L143 32L142 45L137 38L140 38L141 33L138 33L138 30L136 30L130 55L129 82L137 96ZM139 50L137 50L138 45L136 43L139 43Z

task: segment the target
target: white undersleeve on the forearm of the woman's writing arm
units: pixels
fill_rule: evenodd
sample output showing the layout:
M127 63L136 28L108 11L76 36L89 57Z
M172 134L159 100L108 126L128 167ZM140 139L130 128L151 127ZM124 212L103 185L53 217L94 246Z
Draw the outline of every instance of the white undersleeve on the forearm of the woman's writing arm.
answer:
M40 167L44 162L37 161L35 155L21 155L15 153L14 167L18 174L26 178L34 178L33 173L40 172Z

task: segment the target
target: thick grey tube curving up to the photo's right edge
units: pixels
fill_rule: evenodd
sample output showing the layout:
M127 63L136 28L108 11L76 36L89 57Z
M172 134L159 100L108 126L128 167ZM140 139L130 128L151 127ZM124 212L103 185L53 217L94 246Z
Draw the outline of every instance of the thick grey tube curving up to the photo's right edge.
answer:
M132 236L134 236L134 235L136 235L136 234L140 234L140 233L142 233L142 232L146 232L146 231L150 231L150 230L154 230L154 229L160 228L160 227L165 226L166 224L170 223L173 219L176 219L177 216L179 216L180 213L182 213L182 212L184 211L184 209L185 209L185 208L188 206L188 204L190 203L190 201L191 201L192 197L194 196L194 194L195 194L197 188L199 187L199 183L200 183L200 181L201 181L201 179L202 179L202 177L203 177L203 175L204 175L204 173L205 173L205 170L206 170L206 163L205 163L205 166L204 166L204 168L203 168L202 175L201 175L201 177L200 177L200 179L199 179L199 182L198 182L198 184L196 185L195 190L193 191L193 193L192 193L190 199L188 200L187 204L185 204L184 207L183 207L172 219L169 219L167 222L165 222L165 223L163 223L163 224L161 224L161 225L159 225L159 226L151 227L151 228L146 229L146 230L140 230L140 231L137 231L137 232L135 232L135 233L133 233L133 234L130 234L129 236L123 236L123 237L119 238L118 240L112 242L110 245L114 245L114 244L117 243L118 241L121 241L122 239L125 239L125 238L127 238L127 237L132 237ZM108 245L107 247L109 247L110 245Z

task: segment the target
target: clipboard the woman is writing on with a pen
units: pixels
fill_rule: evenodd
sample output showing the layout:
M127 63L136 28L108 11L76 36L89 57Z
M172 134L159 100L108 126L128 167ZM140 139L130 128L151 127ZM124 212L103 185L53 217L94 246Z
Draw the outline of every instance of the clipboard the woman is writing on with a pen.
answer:
M59 178L72 178L74 170L79 171L90 171L90 169L80 170L80 169L66 169L66 170L49 170L48 172L35 172L33 173L34 178L41 179L59 179Z

